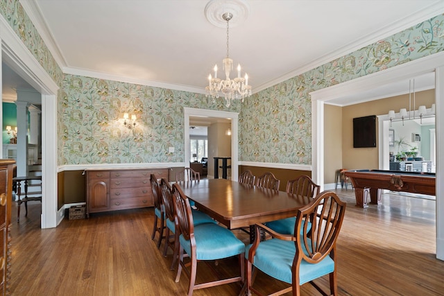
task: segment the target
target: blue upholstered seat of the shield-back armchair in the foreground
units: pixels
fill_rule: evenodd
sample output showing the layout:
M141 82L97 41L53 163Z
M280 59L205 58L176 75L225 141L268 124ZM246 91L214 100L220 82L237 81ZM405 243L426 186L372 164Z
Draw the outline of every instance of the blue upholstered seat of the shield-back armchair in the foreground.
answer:
M250 251L251 245L246 247L246 256ZM303 247L305 249L305 247ZM279 252L276 252L276 251ZM307 251L305 254L307 254ZM262 270L267 275L291 284L291 265L293 264L296 247L293 241L281 241L278 238L272 238L263 241L257 247L255 254L255 267ZM299 270L300 284L317 279L334 271L334 261L330 256L326 256L323 261L316 264L308 263L302 259Z

